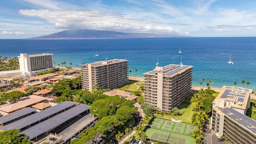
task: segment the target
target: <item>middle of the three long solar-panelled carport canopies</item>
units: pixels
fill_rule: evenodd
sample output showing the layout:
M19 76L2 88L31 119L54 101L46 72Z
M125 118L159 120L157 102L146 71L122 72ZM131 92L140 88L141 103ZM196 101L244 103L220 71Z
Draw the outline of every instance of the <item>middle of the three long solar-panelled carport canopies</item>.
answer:
M30 116L27 116L25 118L22 118L20 120L17 120L16 122L12 122L11 124L7 124L6 126L0 127L0 129L4 130L12 130L12 129L22 129L26 126L29 126L30 124L34 124L35 122L38 122L39 120L42 120L44 118L47 118L48 116L51 116L52 114L56 114L57 112L60 112L66 108L69 108L71 106L75 105L74 102L62 102L60 104L57 104L56 106L52 106L50 108L46 108L45 110L42 110L41 112L32 114Z

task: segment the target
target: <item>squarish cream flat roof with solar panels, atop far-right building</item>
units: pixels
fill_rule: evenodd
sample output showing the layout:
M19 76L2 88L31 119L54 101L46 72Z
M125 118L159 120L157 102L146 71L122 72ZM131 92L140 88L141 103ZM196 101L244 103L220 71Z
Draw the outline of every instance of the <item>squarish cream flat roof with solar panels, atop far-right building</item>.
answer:
M216 103L216 100L224 101L225 107L233 107L246 110L248 100L252 89L237 87L237 86L222 86L222 91L216 96L212 104Z

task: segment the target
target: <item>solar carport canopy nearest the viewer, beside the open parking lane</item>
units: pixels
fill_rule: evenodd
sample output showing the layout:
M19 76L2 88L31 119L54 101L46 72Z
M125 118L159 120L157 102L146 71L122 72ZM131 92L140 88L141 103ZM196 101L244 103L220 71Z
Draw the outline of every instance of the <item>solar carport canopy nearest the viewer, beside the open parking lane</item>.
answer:
M81 114L82 112L84 112L88 109L90 109L90 106L80 104L80 105L75 106L69 110L66 110L65 112L62 112L61 114L58 114L48 120L45 120L44 122L41 122L40 124L32 126L31 128L28 128L20 133L26 134L28 136L28 139L32 140L33 138L36 138L37 136L43 134L44 132L47 132L49 130L52 130L53 128L56 128L60 124L63 124L67 120L74 118L78 114Z

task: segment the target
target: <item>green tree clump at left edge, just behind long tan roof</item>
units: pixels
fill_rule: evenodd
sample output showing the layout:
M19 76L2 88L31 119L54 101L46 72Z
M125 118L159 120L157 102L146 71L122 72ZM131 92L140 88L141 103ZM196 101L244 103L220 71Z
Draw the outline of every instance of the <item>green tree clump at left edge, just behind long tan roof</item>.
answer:
M19 98L25 96L28 96L28 94L25 94L24 92L20 91L8 92L1 96L0 102L6 102L7 100L9 100L9 102L18 102Z

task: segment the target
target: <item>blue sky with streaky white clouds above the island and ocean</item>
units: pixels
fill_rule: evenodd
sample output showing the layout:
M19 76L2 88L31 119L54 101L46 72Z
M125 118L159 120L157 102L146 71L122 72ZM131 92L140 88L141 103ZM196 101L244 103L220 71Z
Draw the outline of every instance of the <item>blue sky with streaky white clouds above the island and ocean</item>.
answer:
M256 0L1 0L0 38L75 29L256 36L255 6Z

